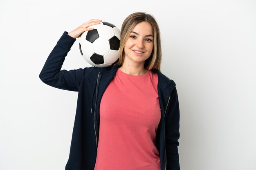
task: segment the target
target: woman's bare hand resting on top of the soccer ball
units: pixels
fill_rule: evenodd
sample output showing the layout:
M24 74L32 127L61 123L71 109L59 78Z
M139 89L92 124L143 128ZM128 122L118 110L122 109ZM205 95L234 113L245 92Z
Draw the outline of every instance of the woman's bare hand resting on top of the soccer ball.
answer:
M69 35L73 38L79 38L79 37L81 37L81 34L84 31L91 31L94 29L94 28L88 28L88 26L100 24L100 22L101 22L101 20L90 20L88 22L83 23L81 26L77 27L76 29L74 29L73 31L68 33L67 35Z

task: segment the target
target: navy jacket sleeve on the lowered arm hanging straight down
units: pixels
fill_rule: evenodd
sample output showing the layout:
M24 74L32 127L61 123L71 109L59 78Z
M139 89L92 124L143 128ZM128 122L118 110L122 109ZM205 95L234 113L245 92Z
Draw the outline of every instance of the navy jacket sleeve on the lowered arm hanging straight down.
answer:
M176 87L170 98L166 117L166 170L180 170L178 148L180 138L180 109Z

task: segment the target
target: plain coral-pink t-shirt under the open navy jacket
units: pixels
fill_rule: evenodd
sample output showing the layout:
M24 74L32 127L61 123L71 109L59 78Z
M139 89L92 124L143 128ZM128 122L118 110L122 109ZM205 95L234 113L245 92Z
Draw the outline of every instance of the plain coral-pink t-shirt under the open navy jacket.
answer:
M137 76L117 70L101 99L94 170L160 170L157 83L150 70Z

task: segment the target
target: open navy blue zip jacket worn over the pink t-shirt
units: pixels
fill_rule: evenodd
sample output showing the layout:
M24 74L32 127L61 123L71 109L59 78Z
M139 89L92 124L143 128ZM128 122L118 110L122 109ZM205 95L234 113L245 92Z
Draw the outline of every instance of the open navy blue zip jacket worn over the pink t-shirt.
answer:
M49 54L39 77L52 87L78 92L70 155L65 170L94 170L99 139L101 97L121 65L61 70L65 57L75 41L76 39L67 35L65 31ZM177 148L180 137L180 111L175 83L158 70L151 71L158 75L161 120L157 129L156 144L161 170L180 170Z

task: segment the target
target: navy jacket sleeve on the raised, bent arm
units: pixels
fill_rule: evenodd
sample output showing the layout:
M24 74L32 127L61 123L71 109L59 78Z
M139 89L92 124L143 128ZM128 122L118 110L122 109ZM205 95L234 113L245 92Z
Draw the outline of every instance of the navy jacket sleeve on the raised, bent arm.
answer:
M78 92L81 80L90 74L94 67L79 68L77 70L61 70L61 66L70 51L72 45L76 41L65 31L58 40L56 46L49 54L39 78L45 84L59 89Z

